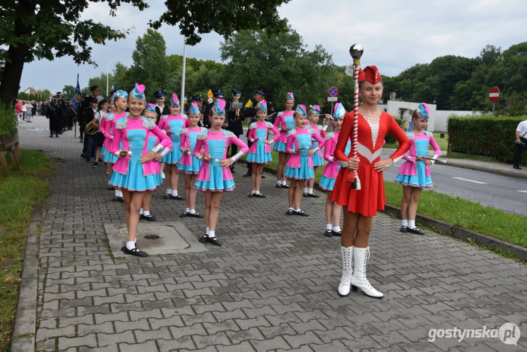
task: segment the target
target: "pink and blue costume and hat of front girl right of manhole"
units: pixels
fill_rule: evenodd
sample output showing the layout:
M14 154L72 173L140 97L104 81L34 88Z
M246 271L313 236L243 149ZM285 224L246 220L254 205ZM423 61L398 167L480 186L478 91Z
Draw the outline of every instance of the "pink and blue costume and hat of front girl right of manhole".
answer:
M216 100L212 106L212 111L216 115L224 115L225 100ZM249 147L232 132L223 129L219 132L211 132L209 130L207 133L198 135L196 147L194 147L194 156L201 160L203 156L200 150L204 149L205 155L210 155L212 159L203 161L198 176L196 176L194 189L211 192L230 192L234 190L234 180L230 168L222 168L220 166L221 161L227 158L227 149L232 143L240 148L240 151L230 158L234 163L249 151Z

